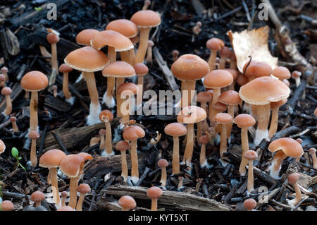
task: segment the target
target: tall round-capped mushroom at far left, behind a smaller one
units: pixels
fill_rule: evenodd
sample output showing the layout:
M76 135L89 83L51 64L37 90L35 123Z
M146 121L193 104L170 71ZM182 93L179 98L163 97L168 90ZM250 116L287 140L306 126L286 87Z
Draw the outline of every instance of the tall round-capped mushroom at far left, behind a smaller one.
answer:
M37 92L49 85L49 80L44 73L30 71L23 76L20 85L25 91L31 92L30 130L38 130Z

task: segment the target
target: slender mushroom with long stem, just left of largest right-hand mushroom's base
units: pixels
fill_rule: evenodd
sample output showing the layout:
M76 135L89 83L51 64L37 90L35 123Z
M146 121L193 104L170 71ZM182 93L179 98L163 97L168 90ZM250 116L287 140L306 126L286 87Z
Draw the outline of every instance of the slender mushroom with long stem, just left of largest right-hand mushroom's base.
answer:
M233 123L237 124L237 127L241 128L241 145L242 145L242 157L239 167L240 176L244 176L248 161L244 157L244 154L249 151L249 139L248 139L248 128L254 126L256 123L255 119L249 114L239 114L233 119Z

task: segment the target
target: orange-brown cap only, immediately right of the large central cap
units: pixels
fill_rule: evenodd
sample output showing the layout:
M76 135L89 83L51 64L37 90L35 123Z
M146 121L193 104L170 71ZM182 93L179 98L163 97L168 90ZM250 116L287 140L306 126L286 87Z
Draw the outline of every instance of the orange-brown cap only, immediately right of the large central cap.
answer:
M204 78L204 86L208 88L220 88L231 85L233 77L231 73L225 70L214 70Z

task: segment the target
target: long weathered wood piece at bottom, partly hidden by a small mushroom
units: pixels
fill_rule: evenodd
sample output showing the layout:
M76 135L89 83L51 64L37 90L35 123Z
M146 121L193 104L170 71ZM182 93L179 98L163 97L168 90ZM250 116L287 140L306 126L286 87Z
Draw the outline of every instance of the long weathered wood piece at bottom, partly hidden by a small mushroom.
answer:
M107 195L123 196L130 195L135 199L149 200L147 197L148 188L131 187L131 186L109 186L102 192ZM163 195L158 199L159 207L173 207L180 210L199 210L199 211L228 211L229 205L222 204L216 200L210 200L205 197L199 197L189 193L182 193L171 190L163 190Z

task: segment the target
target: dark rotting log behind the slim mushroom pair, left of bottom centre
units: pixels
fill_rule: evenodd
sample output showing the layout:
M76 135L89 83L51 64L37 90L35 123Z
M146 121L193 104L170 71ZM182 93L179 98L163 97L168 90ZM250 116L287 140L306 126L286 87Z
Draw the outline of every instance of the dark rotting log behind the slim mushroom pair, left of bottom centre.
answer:
M139 152L137 159L139 168L144 168L147 154ZM127 154L128 169L131 169L131 156ZM94 160L87 162L84 172L85 178L97 176L97 174L108 174L109 172L116 173L121 171L121 156L113 155L111 157L94 157Z

